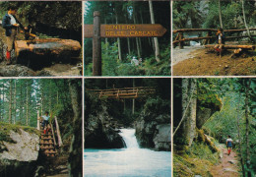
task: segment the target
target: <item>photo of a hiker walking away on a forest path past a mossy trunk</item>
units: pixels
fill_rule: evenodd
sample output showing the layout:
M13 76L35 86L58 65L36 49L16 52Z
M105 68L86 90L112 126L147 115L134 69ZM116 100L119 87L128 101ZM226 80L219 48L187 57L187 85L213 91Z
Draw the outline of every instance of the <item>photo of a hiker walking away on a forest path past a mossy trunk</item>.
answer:
M173 176L254 176L253 78L173 79Z

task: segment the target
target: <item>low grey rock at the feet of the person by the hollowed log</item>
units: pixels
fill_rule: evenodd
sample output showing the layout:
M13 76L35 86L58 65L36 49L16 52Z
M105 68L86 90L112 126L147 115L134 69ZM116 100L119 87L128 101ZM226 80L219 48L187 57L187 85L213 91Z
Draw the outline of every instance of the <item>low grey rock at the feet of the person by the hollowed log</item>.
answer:
M0 65L1 77L32 77L32 69L21 65Z

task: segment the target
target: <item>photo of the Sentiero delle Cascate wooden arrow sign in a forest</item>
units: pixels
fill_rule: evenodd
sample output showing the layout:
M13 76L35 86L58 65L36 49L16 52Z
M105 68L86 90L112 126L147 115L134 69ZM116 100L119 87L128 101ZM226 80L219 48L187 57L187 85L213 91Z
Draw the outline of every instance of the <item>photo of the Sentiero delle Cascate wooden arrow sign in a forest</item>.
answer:
M170 76L170 2L87 1L85 76Z

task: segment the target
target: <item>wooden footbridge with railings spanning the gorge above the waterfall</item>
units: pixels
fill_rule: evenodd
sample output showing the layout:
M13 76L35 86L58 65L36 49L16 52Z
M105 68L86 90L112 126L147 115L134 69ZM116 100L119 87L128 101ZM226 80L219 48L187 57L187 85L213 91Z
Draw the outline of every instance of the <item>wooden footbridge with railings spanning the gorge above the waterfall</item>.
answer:
M88 89L96 94L98 98L107 99L135 99L155 94L156 89L152 87L137 87L124 89Z

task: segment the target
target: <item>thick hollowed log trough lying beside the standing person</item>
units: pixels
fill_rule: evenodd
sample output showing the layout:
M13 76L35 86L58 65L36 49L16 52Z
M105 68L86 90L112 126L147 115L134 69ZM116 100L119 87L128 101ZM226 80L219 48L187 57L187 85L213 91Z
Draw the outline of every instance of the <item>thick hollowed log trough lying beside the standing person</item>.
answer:
M15 54L17 58L42 57L78 57L81 51L79 41L61 38L45 38L15 41Z

